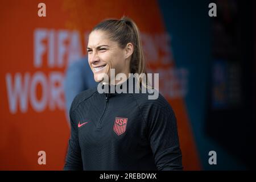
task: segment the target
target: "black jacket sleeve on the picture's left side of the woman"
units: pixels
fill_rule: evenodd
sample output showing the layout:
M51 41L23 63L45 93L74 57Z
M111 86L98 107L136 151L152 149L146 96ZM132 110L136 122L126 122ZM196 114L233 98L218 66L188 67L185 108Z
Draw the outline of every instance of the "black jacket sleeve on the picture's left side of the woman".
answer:
M68 142L68 153L66 156L66 162L64 170L82 170L82 159L81 159L81 149L78 140L78 128L77 123L73 121L72 118L72 106L69 113L71 121L71 137Z

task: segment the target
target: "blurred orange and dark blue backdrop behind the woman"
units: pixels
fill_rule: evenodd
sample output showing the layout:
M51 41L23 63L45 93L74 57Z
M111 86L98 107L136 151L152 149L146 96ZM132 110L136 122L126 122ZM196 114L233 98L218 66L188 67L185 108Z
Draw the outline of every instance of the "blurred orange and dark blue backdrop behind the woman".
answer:
M45 0L45 17L39 3L0 1L0 170L63 169L69 106L96 84L88 34L122 15L141 30L148 72L175 111L184 169L255 169L253 1Z

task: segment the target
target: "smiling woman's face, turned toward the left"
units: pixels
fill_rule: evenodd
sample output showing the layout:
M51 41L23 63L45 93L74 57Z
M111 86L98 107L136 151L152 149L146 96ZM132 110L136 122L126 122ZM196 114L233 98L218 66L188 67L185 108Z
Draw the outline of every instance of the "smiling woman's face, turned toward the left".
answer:
M122 49L117 42L110 40L105 31L94 30L90 33L87 51L95 81L102 81L104 76L101 73L106 73L110 78L110 68L115 69L115 75L128 75L130 60L127 60L126 48Z

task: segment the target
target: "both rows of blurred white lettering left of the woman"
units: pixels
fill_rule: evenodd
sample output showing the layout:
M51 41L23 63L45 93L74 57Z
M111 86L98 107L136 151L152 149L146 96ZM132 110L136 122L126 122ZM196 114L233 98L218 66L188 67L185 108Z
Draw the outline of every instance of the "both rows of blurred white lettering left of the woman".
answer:
M79 32L68 30L53 30L36 28L34 31L34 61L35 68L64 68L72 61L80 59L82 49ZM44 57L46 59L44 60ZM46 63L44 63L46 61ZM42 71L31 75L26 72L7 73L6 87L10 113L15 114L20 108L26 113L28 104L37 112L65 108L64 75L61 72L49 72L48 76ZM38 86L42 86L42 95L37 96Z

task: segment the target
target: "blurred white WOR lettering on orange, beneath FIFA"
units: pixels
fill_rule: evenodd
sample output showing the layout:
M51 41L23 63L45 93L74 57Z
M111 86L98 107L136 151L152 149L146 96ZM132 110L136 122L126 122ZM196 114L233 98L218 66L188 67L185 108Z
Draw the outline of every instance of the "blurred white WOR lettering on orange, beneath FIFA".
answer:
M14 81L13 81L14 80ZM6 86L9 102L9 109L12 114L18 112L18 105L22 113L28 110L28 101L32 109L37 112L42 112L46 109L64 110L64 91L63 91L64 75L61 72L51 72L47 78L43 72L35 72L34 75L25 73L22 76L20 73L15 73L12 78L10 73L6 74ZM36 88L42 86L42 96L36 96Z

